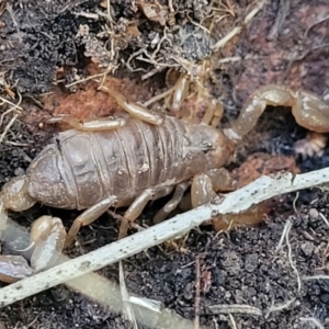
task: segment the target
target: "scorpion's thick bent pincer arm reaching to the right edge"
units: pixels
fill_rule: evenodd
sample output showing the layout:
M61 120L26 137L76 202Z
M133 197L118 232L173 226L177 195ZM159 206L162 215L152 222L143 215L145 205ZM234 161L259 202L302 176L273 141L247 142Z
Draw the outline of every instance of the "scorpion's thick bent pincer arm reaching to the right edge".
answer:
M257 124L268 105L290 106L296 122L317 133L329 132L329 105L317 95L297 91L281 84L269 84L254 91L247 100L239 117L225 134L231 139L241 139Z

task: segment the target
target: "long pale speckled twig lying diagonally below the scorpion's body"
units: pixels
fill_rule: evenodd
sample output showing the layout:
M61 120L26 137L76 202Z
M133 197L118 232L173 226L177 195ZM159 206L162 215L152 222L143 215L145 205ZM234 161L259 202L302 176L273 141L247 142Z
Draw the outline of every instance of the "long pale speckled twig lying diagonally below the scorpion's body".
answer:
M0 290L0 306L10 305L44 290L71 281L181 236L220 214L240 213L273 196L329 182L329 168L303 174L264 175L249 185L215 198L212 203L147 228L144 231L56 265ZM2 212L1 212L2 213Z

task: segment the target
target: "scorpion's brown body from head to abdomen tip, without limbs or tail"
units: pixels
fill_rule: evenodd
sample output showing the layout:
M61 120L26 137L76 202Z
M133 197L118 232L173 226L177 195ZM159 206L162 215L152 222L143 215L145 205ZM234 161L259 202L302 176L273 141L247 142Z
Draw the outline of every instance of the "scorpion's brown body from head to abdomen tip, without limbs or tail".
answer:
M220 131L174 117L159 126L131 118L110 132L69 129L33 161L27 192L58 208L84 209L113 195L116 206L127 206L148 188L223 167L231 151Z

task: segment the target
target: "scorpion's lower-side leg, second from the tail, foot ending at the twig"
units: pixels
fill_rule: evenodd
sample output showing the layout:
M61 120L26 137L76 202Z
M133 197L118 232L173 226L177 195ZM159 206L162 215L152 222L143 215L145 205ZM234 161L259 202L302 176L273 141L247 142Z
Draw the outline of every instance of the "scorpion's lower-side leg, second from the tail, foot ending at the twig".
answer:
M127 235L129 223L133 223L141 214L150 200L168 195L171 191L172 186L155 186L144 190L126 211L120 226L118 238L122 239Z

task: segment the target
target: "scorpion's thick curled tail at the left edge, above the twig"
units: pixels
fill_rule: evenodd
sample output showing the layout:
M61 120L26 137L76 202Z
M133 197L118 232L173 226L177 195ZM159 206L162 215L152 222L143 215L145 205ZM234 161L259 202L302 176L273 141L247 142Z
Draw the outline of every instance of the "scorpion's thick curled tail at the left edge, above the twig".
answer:
M9 245L11 245L20 234L16 232L14 225L9 220L7 209L23 211L34 204L34 201L32 201L29 195L25 195L25 177L13 179L3 186L1 192L1 241L5 241ZM31 229L32 245L30 245L29 248L21 250L26 252L33 247L31 256L31 265L33 270L29 266L26 260L22 256L1 256L0 280L9 283L14 282L30 276L33 272L38 272L49 266L60 254L65 237L66 231L59 218L53 218L50 216L39 217L34 222Z

